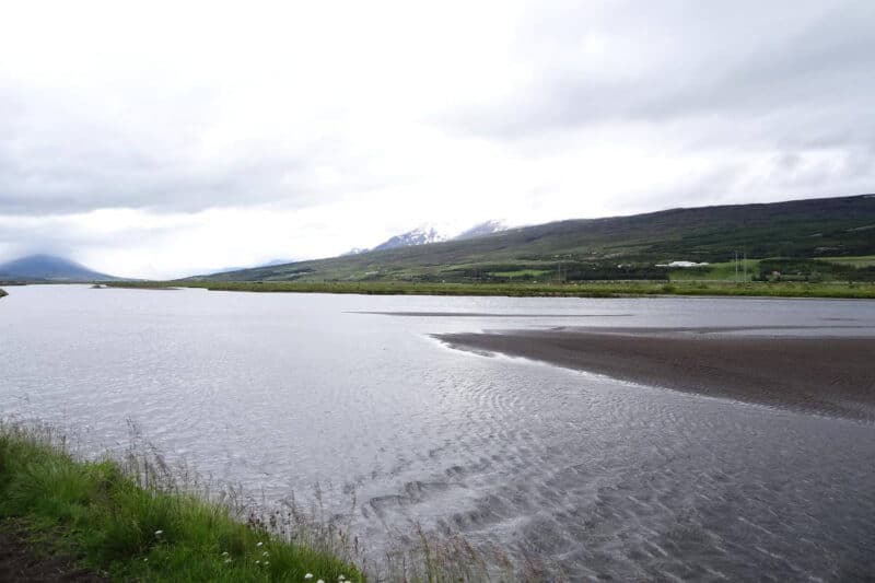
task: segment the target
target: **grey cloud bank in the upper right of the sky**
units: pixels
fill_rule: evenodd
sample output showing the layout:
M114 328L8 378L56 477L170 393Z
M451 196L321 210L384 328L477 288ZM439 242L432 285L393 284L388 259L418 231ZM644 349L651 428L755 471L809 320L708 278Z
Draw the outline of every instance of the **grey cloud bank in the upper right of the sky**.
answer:
M760 140L871 141L875 4L845 2L826 12L813 5L806 12L795 2L660 2L644 10L627 4L609 14L615 28L606 33L622 38L632 24L621 18L634 23L632 33L641 39L637 56L654 66L633 78L625 71L587 77L574 70L579 37L591 26L583 10L572 11L563 20L576 24L578 37L563 24L565 33L548 38L546 50L536 40L549 37L550 28L525 39L521 53L533 63L528 86L488 107L463 108L451 123L498 140L615 123L696 120L708 131L712 120L730 120L763 124ZM782 28L782 15L789 19L796 10L807 18ZM598 25L592 28L597 32ZM663 59L654 57L665 44L675 48ZM572 66L553 62L563 60Z

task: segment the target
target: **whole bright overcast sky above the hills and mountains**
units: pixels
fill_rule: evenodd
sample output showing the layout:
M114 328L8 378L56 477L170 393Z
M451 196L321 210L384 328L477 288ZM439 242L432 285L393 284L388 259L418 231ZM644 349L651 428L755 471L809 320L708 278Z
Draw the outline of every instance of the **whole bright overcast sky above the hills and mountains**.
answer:
M0 260L875 191L875 2L0 0Z

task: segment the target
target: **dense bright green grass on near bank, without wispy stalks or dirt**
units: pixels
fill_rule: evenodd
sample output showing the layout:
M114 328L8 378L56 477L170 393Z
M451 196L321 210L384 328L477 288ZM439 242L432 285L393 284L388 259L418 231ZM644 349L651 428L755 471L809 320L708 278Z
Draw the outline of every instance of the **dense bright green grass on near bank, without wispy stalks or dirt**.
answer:
M118 464L80 462L32 431L0 428L0 522L118 581L336 582L361 573L236 522L223 506L143 488Z

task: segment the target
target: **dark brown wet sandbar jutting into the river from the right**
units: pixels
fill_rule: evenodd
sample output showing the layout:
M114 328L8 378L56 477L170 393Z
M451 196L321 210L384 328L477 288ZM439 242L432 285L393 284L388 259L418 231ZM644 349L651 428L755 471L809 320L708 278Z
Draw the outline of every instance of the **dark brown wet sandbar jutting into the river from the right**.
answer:
M435 338L456 349L646 385L875 421L873 337L779 337L757 328L558 328Z

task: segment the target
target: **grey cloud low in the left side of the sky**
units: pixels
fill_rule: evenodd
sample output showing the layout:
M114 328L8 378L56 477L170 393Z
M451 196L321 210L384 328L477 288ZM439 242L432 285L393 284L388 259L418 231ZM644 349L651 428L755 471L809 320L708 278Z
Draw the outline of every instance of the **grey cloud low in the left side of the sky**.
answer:
M147 127L136 113L133 123L124 116L103 120L101 112L66 106L69 98L0 88L0 214L102 208L194 212L258 203L302 208L382 184L346 154L339 136L314 136L290 152L281 144L240 143L230 154L202 160L198 140L210 120L190 103L176 104L199 117L189 127L176 112L176 119L155 119L152 128L148 116ZM325 166L343 180L323 184L314 168Z

